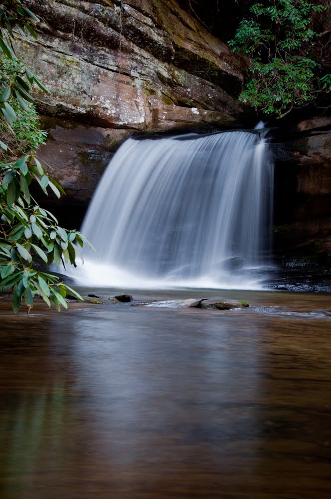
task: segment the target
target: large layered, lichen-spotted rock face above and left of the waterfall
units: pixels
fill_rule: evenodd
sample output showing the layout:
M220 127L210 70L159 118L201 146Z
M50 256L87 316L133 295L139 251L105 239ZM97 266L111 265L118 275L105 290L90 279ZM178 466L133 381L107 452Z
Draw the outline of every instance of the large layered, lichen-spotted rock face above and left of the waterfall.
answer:
M113 151L134 132L229 127L241 113L241 63L176 1L26 4L41 32L15 48L51 91L35 90L50 130L40 155L66 200L87 204Z

